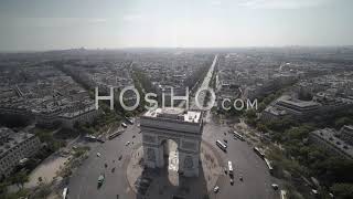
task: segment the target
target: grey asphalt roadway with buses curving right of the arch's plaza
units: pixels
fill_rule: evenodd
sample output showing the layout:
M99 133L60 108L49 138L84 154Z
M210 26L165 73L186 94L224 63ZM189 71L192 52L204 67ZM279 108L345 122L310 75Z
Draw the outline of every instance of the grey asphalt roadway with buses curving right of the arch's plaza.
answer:
M234 186L229 184L229 176L224 175L218 178L220 192L212 192L211 198L279 198L271 188L274 179L265 161L254 153L246 142L234 139L228 130L229 127L215 125L212 122L204 127L203 140L212 144L218 150L224 167L227 168L227 161L231 160L234 169ZM223 143L223 139L227 140L227 153L223 153L215 145L217 139ZM243 181L239 180L239 176L243 176Z

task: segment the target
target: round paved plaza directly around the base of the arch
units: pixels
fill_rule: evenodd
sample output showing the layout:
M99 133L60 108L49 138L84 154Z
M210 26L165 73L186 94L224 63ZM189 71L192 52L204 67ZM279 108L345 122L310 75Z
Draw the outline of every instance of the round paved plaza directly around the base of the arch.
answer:
M141 196L149 198L168 198L168 196L180 196L184 198L199 198L212 192L218 177L223 175L222 167L217 159L217 151L205 143L201 145L201 169L200 176L194 178L183 177L178 172L179 159L176 145L170 148L168 167L164 169L148 169L143 171L143 153L139 147L132 153L132 158L127 166L127 180L131 189ZM165 163L167 164L167 163ZM141 188L137 181L152 179L148 188ZM203 187L201 187L201 185ZM147 186L146 186L147 187ZM195 188L192 191L190 188Z

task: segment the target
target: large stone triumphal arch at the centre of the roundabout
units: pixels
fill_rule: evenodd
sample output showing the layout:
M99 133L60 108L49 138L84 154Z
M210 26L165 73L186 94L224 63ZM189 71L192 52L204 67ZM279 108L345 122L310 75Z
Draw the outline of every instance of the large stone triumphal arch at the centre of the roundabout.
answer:
M164 166L163 143L178 144L179 171L186 177L199 176L202 114L183 108L157 108L141 116L140 122L145 165L150 168Z

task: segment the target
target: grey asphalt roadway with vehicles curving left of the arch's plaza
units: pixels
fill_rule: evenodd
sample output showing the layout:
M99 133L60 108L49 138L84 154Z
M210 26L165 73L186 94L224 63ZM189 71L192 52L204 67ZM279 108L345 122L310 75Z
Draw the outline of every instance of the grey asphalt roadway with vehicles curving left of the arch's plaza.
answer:
M138 132L137 125L129 125L120 136L111 140L107 139L104 144L94 144L96 146L92 147L89 157L69 180L69 198L116 198L117 195L121 198L131 198L124 167L130 159L131 148L136 147L137 143L141 143ZM132 138L132 135L136 138ZM126 146L126 142L130 142L130 145ZM100 154L100 157L97 157L97 153ZM122 157L119 160L120 156ZM111 172L113 168L115 172ZM105 174L105 181L98 189L97 179L100 174Z

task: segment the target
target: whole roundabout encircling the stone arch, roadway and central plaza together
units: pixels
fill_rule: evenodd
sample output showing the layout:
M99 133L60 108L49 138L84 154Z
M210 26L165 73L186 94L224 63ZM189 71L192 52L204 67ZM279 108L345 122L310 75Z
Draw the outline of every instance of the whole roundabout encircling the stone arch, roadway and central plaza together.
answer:
M137 124L129 125L124 134L111 140L107 139L104 144L82 143L90 146L92 150L69 178L69 199L173 199L173 196L184 199L204 199L206 196L212 199L279 198L270 187L274 179L264 160L246 142L235 140L229 134L224 134L228 130L228 126L214 123L204 125L199 177L178 174L180 163L175 160L178 150L174 149L163 154L162 168L146 168L147 178L143 179L143 138ZM227 153L215 145L217 139L227 139ZM126 145L128 142L130 144ZM99 157L97 153L100 154ZM228 160L234 167L234 185L231 185L229 176L224 172ZM105 180L97 188L101 174L105 175ZM243 181L238 180L240 175L244 177ZM141 184L140 188L136 187L137 181ZM217 193L213 191L215 186L220 187ZM145 195L139 193L141 188L146 189Z

